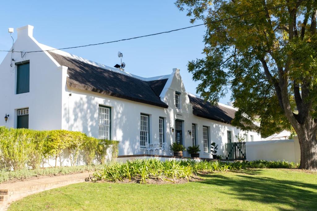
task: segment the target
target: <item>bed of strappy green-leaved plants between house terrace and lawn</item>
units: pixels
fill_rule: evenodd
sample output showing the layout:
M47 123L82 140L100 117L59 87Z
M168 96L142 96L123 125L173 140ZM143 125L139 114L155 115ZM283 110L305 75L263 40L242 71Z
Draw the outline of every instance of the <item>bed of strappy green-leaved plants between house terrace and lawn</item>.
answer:
M114 163L106 165L103 169L94 172L94 181L108 180L113 182L124 179L139 180L146 183L147 179L160 179L163 181L175 181L185 178L188 181L193 174L204 171L241 171L247 168L298 168L298 164L285 161L251 161L251 162L219 162L219 161L186 161L159 159L135 159L126 163Z

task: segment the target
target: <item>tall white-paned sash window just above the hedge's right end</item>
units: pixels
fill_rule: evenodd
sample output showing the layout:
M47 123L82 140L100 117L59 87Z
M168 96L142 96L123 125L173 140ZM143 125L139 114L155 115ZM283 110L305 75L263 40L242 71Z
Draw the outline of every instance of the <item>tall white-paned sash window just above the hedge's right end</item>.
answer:
M111 139L111 108L99 105L99 139Z

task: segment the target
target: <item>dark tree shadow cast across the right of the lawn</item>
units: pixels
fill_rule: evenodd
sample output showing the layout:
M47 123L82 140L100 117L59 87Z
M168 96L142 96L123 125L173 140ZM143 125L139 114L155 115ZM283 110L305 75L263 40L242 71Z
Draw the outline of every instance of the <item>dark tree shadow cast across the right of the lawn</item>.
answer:
M230 195L240 200L276 203L276 208L279 210L285 209L278 207L278 204L285 204L294 209L317 210L317 193L313 191L317 189L316 184L248 176L248 174L260 174L260 171L249 170L247 174L237 175L238 178L227 177L223 174L209 174L204 175L206 179L199 183L228 187L234 191L230 191Z

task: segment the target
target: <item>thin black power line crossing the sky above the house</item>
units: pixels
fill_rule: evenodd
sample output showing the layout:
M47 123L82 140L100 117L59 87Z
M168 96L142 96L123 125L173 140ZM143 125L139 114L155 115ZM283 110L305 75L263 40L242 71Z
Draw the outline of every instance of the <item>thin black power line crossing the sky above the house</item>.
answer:
M57 49L44 50L44 51L55 51L55 50L65 50L65 49L71 49L71 48L87 47L87 46L96 46L96 45L109 44L109 43L120 42L120 41L125 41L125 40L133 40L133 39L138 39L138 38L142 38L142 37L149 37L149 36L154 36L154 35L159 35L159 34L167 34L167 33L175 32L175 31L183 30L183 29L188 29L188 28L193 28L193 27L197 27L197 26L203 26L203 25L210 24L210 23L222 22L222 21L227 21L227 20L234 19L234 18L248 16L248 15L252 15L252 14L255 14L255 13L264 12L266 10L277 9L277 8L281 8L281 7L284 7L284 6L288 6L288 5L295 4L295 3L301 3L301 2L305 2L305 1L307 1L307 0L300 0L300 1L297 1L297 2L287 3L287 4L271 7L271 8L268 8L268 9L262 9L262 10L258 10L258 11L255 11L255 12L250 12L250 13L246 13L246 14L242 14L242 15L238 15L238 16L232 16L232 17L229 17L229 18L219 19L219 20L216 20L216 21L206 22L206 23L197 24L197 25L193 25L193 26L188 26L188 27L184 27L184 28L173 29L173 30L170 30L170 31L159 32L159 33L155 33L155 34L148 34L148 35L143 35L143 36L138 36L138 37L122 39L122 40L114 40L114 41L109 41L109 42L101 42L101 43L96 43L96 44L89 44L89 45L75 46L75 47L67 47L67 48L57 48ZM0 50L0 51L12 52L12 51L5 51L5 50ZM13 52L35 53L35 52L44 52L44 51L27 51L27 52L13 51Z

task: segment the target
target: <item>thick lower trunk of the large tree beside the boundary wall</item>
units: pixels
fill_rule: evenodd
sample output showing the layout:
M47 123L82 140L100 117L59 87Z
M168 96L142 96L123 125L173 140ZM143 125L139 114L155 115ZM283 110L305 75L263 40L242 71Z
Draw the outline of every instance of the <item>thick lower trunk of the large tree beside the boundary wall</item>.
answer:
M297 133L301 146L300 169L317 171L317 138L313 129L303 129Z

